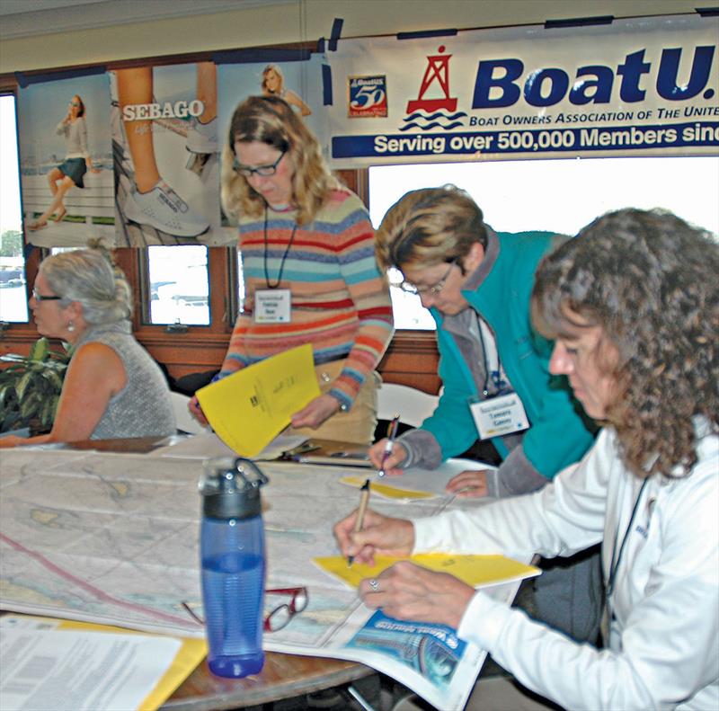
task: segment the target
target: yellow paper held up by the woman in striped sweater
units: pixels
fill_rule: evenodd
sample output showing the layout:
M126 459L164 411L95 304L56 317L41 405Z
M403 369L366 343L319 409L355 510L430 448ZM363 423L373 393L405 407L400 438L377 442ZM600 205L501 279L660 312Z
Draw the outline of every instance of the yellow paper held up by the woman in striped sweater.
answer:
M197 397L217 437L255 457L320 395L312 345L284 351L200 388Z

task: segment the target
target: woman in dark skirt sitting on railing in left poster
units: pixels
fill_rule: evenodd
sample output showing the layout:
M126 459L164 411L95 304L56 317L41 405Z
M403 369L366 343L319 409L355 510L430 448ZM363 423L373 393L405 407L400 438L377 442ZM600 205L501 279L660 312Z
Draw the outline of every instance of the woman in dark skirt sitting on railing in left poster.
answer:
M28 226L30 230L48 226L48 219L55 215L54 222L65 217L63 204L67 191L75 186L84 188L84 174L88 170L100 173L93 168L93 161L87 149L87 125L84 120L83 100L75 94L67 106L67 115L58 123L58 135L65 137L65 160L48 173L48 183L53 200L48 209Z

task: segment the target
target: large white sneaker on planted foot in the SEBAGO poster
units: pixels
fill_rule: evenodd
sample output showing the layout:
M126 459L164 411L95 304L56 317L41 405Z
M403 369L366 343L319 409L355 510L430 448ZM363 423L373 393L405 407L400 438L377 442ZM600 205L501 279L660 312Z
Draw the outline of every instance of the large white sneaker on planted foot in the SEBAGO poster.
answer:
M206 218L190 206L164 181L148 192L135 187L125 200L125 217L177 237L196 237L209 229Z

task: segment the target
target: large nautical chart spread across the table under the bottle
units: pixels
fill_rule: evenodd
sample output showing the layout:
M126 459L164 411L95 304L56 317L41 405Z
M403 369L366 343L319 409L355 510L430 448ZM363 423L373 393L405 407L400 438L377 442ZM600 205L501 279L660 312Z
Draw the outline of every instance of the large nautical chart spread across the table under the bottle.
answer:
M358 502L342 479L356 469L261 467L270 477L263 489L267 584L305 585L310 598L288 627L265 635L265 648L365 662L437 707L463 704L484 653L447 627L384 618L311 563L337 554L333 524ZM398 485L406 478L402 484L434 493L431 498L377 495L372 506L403 517L431 515L452 502L443 489L457 467L395 478ZM185 607L201 616L200 470L197 461L152 454L4 450L0 607L203 635Z

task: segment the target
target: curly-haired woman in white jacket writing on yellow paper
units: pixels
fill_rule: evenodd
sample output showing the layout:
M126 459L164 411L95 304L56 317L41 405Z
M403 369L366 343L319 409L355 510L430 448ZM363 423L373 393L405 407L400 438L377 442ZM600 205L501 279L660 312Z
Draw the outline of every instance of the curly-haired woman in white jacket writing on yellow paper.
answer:
M572 709L719 708L719 246L670 213L595 220L537 271L595 446L543 490L426 520L368 511L335 526L359 561L420 551L572 555L602 542L605 648L577 644L445 573L395 564L370 608L457 628L516 680ZM551 446L551 443L547 443ZM484 681L467 705L479 707Z

